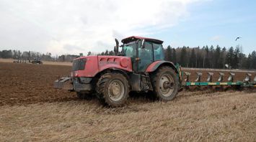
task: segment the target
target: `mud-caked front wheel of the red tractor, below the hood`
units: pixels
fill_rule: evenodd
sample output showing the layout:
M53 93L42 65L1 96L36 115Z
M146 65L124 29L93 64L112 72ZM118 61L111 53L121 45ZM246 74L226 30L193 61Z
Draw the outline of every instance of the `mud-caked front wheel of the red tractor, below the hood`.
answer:
M97 82L98 98L111 107L124 105L129 94L126 77L120 73L106 73Z

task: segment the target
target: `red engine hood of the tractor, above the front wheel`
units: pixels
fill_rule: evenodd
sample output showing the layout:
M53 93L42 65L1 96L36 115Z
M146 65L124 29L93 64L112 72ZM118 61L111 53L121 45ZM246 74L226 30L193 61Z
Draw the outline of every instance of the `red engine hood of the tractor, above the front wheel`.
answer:
M123 56L87 56L79 57L76 60L86 58L84 70L76 70L71 73L72 77L94 77L97 73L106 69L120 69L132 72L131 57Z

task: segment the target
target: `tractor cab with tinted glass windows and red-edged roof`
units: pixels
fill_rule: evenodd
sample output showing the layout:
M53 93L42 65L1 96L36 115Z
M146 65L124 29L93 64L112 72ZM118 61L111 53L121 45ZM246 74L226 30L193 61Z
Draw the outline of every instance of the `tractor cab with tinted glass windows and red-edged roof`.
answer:
M123 48L120 55L131 57L133 71L135 72L145 72L152 62L164 60L163 41L161 40L128 37L123 39L122 42L123 45L120 47ZM118 49L115 49L115 51L118 51Z

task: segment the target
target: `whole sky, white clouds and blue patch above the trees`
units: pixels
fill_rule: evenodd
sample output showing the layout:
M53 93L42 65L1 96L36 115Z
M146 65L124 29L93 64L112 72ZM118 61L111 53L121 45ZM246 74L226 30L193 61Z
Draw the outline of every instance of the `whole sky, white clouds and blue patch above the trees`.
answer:
M87 55L136 35L164 47L239 45L249 54L255 7L253 0L0 0L0 50Z

